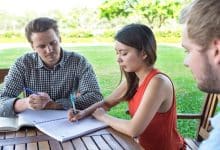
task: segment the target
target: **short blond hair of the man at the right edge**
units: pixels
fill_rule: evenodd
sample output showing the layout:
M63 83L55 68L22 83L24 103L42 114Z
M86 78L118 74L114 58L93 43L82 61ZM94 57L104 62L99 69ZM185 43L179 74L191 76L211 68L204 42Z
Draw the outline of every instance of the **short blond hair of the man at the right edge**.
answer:
M190 39L209 47L213 39L220 38L220 0L194 0L182 10L180 23L186 23Z

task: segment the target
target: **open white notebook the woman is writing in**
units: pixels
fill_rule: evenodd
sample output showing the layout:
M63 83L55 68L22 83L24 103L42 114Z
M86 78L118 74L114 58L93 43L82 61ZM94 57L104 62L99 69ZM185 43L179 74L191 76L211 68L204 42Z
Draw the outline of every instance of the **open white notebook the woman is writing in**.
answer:
M67 111L64 110L26 110L19 116L29 120L40 131L60 142L107 127L105 123L91 116L70 122L67 119Z

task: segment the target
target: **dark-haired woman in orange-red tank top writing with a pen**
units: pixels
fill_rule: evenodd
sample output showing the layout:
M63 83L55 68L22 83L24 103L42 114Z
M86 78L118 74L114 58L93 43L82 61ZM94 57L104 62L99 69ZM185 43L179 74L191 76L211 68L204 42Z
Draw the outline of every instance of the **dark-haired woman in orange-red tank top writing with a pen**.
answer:
M88 114L105 122L115 130L137 137L146 150L185 149L176 130L175 91L171 80L154 68L156 40L145 25L130 24L115 36L117 61L126 81L104 101L74 115L69 111L70 121ZM131 120L119 119L106 110L123 100L129 104Z

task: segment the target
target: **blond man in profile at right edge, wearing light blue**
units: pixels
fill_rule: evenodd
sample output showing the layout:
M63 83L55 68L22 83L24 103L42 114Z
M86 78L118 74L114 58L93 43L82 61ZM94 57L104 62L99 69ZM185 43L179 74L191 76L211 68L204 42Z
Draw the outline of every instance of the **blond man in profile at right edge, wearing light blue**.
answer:
M198 88L204 92L220 93L219 16L219 0L195 0L183 9L180 17L181 23L184 23L182 46L187 53L184 64L190 68ZM200 149L219 148L219 115L214 117L212 123L214 130Z

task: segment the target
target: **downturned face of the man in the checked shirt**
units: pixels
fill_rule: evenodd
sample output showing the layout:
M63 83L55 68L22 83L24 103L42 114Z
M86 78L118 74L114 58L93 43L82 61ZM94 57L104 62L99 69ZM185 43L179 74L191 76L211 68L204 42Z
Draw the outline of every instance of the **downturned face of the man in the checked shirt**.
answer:
M38 53L44 64L53 68L61 57L60 39L53 29L32 33L32 48Z

